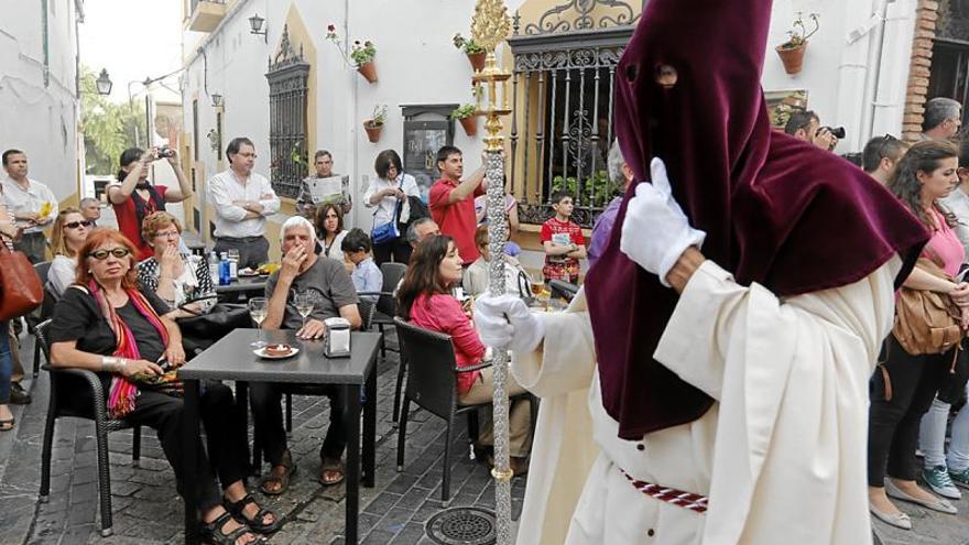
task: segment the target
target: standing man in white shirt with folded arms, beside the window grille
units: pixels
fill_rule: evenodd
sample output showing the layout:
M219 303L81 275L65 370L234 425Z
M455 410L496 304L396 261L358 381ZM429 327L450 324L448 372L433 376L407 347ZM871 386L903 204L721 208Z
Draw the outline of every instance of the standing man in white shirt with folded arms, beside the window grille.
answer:
M255 146L251 140L232 139L226 156L229 170L207 184L216 210L215 251L239 250L239 266L257 268L269 261L265 217L280 210L280 198L265 176L252 172Z

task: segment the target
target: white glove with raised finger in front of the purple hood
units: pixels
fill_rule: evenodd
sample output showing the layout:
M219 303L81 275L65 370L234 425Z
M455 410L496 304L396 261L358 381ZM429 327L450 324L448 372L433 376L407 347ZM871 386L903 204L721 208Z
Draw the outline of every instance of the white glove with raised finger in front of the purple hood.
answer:
M673 198L663 160L653 157L650 172L653 183L639 184L635 197L629 200L619 248L669 287L666 275L679 255L692 246L700 247L707 233L689 226L689 220Z

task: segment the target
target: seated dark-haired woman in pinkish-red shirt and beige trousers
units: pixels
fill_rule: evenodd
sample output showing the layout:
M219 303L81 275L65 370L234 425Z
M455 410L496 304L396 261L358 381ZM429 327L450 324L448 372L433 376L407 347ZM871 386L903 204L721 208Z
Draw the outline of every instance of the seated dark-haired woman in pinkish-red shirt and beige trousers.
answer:
M479 363L484 345L471 321L470 305L462 307L450 291L461 281L461 257L454 239L436 236L417 244L411 255L407 274L398 290L400 315L412 324L449 335L458 367ZM421 364L420 360L411 364ZM493 395L492 369L458 373L458 400L461 404L488 403ZM508 377L509 395L524 393L514 377ZM530 407L525 401L512 402L509 413L511 468L515 475L527 471ZM491 424L482 427L478 447L491 446Z

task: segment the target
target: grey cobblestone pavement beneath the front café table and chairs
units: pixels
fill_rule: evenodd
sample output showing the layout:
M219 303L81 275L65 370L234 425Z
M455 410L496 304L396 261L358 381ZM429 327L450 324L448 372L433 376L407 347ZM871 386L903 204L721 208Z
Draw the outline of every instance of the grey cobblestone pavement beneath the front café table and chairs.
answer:
M23 342L23 353L32 353L31 339ZM386 361L378 369L377 486L360 489L360 536L366 544L433 543L425 536L424 523L444 509L444 421L412 408L406 464L402 472L396 471L398 436L391 416L396 362L396 353L388 351ZM112 536L99 534L95 434L88 421L58 419L51 498L47 503L37 503L46 373L42 372L31 386L33 403L15 407L15 432L0 434L0 545L181 543L182 500L151 429L142 433L139 467L131 464L131 432L110 435ZM345 487L324 488L316 481L318 449L329 422L328 405L326 397L293 397L290 448L300 470L283 497L257 494L263 505L286 519L285 526L272 537L273 544L342 543ZM490 473L467 456L464 419L459 430L451 450L450 506L493 509ZM250 479L250 488L254 489L255 483L257 478ZM521 512L524 483L524 478L515 478L512 484L514 517Z

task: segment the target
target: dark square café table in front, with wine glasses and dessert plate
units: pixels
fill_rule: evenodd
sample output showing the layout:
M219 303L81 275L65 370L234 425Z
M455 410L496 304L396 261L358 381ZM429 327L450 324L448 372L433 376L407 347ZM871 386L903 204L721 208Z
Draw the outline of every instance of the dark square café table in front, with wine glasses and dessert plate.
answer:
M344 386L347 428L347 515L346 543L357 543L357 517L360 502L360 482L373 487L374 442L377 435L377 353L380 334L353 331L349 358L327 358L323 341L296 339L293 329L263 330L262 340L285 342L300 353L281 360L262 359L252 353L250 344L257 340L258 329L236 329L198 355L178 370L185 381L186 418L182 438L186 460L196 457L198 429L198 384L200 380L232 380L237 382L290 382L298 384L338 384ZM363 448L362 479L360 451L360 388L363 386ZM243 390L244 391L244 390ZM195 466L185 465L185 482L196 478ZM198 543L197 499L194 488L185 487L185 543Z

